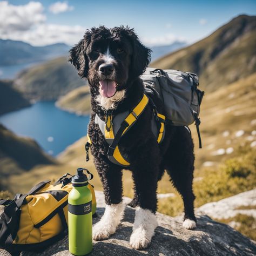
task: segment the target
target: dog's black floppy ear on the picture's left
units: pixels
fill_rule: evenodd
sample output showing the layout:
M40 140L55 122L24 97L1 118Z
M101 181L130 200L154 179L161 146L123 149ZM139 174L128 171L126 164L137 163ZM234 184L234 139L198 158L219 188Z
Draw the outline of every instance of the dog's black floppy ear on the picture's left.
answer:
M69 51L69 62L75 66L78 70L78 75L82 78L88 76L89 63L86 48L91 42L91 35L90 31L86 31L83 39Z

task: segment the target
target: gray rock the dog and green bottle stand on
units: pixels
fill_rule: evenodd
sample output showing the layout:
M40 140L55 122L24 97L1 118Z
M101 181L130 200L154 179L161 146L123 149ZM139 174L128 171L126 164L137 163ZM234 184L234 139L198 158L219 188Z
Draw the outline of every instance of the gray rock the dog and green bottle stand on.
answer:
M99 221L104 213L103 193L97 192ZM125 202L129 199L124 198ZM181 216L172 218L157 213L159 226L147 250L137 251L129 246L134 221L134 209L126 207L122 224L110 239L93 242L93 251L90 255L255 255L256 243L228 225L213 221L207 215L197 215L197 228L194 231L186 230L182 226ZM8 255L4 251L0 255ZM72 255L68 250L68 237L46 248L41 253L22 252L23 256Z

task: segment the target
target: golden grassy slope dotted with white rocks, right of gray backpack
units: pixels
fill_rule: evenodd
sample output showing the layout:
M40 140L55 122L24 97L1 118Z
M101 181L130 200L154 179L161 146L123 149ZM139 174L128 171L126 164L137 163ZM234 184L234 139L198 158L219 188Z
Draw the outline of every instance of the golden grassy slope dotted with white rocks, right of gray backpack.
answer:
M200 112L203 149L198 149L196 127L190 126L197 167L218 165L237 154L241 145L256 146L255 99L256 72L205 95Z

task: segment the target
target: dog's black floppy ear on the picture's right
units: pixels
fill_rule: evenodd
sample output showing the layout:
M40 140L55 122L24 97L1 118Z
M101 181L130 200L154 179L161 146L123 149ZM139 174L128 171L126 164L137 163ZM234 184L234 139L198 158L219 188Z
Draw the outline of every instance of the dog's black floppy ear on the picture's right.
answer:
M130 76L137 78L145 71L151 60L151 50L143 45L133 29L130 30L133 53L130 64Z

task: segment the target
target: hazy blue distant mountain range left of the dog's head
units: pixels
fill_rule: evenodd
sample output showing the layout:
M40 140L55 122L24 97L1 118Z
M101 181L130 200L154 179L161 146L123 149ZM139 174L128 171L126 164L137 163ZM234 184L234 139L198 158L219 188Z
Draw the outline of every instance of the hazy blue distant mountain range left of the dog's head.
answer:
M68 56L69 48L66 44L32 46L21 41L0 39L0 66L37 62L63 55Z

